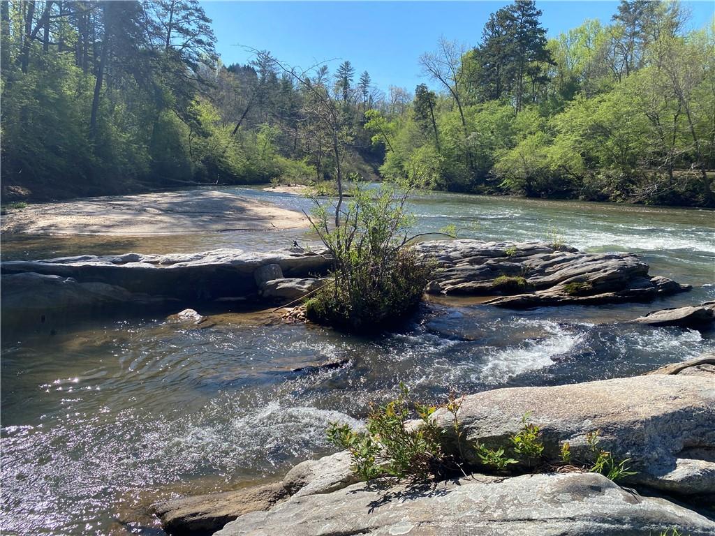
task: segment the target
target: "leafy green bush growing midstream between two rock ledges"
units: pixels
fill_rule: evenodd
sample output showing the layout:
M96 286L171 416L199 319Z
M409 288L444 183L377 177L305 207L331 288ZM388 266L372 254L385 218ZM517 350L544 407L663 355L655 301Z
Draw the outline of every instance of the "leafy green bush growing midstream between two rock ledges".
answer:
M305 307L314 322L369 332L412 312L431 268L409 247L408 189L367 189L358 183L351 193L337 227L328 223L329 206L313 198L310 221L330 252L333 269L330 282Z

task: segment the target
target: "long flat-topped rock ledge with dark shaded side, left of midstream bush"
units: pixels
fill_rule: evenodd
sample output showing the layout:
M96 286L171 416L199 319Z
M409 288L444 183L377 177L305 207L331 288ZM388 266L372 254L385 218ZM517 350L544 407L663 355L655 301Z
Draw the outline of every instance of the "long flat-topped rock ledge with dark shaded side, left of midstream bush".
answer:
M308 278L327 272L330 259L301 248L270 253L216 249L196 254L62 257L8 261L0 265L4 325L31 327L40 319L92 317L121 304L182 304L259 297L266 282ZM268 279L266 279L266 277ZM278 279L271 299L285 299L315 279ZM5 322L8 322L5 324Z

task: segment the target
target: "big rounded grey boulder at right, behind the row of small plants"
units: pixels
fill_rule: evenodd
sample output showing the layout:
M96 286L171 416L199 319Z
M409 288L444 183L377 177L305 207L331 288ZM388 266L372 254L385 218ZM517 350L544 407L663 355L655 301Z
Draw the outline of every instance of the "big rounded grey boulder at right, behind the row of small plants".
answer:
M495 389L465 397L458 412L462 451L478 463L469 445L508 445L523 415L541 427L544 454L553 460L563 442L573 457L588 454L586 435L601 432L601 447L616 460L630 458L636 475L626 482L681 495L715 490L715 384L711 378L647 375L556 387ZM458 450L452 415L435 413Z

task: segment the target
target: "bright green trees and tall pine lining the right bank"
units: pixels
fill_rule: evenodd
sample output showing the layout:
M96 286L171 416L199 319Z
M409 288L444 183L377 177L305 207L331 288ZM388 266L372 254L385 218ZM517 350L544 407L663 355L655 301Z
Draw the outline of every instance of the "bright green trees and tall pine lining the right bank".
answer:
M622 3L613 24L585 21L548 42L539 15L516 1L490 16L475 49L456 57L440 41L423 56L445 91L420 85L411 109L383 113L383 176L450 191L715 204L715 34L682 31L675 3Z

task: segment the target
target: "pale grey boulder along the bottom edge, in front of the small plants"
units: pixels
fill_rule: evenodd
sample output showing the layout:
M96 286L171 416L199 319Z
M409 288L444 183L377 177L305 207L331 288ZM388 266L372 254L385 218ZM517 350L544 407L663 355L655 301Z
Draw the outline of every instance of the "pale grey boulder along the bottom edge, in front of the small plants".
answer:
M239 517L217 536L484 535L644 536L676 527L706 536L715 522L641 497L594 473L465 478L426 489L363 483L292 497Z

